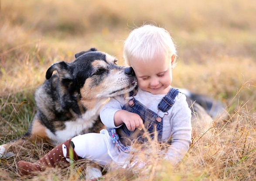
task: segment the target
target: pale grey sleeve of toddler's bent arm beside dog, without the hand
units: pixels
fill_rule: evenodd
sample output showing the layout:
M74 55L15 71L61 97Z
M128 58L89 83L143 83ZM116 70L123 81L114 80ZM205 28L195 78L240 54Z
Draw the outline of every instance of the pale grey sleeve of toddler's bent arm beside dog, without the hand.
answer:
M124 105L123 95L111 97L110 100L104 105L104 107L99 112L100 119L102 123L108 128L117 128L114 123L114 115L116 111L121 110Z

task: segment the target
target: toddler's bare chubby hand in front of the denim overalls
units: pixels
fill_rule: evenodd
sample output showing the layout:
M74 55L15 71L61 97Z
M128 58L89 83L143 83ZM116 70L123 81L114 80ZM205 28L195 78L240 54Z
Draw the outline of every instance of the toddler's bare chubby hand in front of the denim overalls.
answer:
M126 110L116 111L114 122L116 126L124 123L129 131L134 131L135 128L141 130L144 127L143 121L138 114L130 113Z

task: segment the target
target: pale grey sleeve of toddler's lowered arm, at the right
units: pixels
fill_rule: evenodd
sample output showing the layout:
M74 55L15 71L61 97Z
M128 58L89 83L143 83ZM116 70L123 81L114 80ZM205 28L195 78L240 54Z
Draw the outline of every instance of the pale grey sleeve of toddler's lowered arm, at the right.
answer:
M191 110L184 94L178 95L171 114L171 145L168 147L164 159L175 165L181 161L191 144Z

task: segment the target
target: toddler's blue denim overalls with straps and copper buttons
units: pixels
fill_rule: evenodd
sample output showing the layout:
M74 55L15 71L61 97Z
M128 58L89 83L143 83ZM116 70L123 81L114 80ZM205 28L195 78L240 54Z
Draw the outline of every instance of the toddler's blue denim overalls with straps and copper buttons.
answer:
M178 93L179 91L172 87L171 90L160 101L157 109L164 112L164 115L167 115L169 109L175 103L174 99ZM134 96L133 91L130 92L130 96ZM154 137L157 136L157 141L162 141L164 116L159 117L159 111L158 113L151 111L139 101L134 99L134 97L130 99L130 101L126 103L122 109L139 114L141 119L143 120L143 124L146 130L140 130L136 128L134 131L129 131L125 124L118 128L107 128L113 143L116 144L119 149L121 149L123 152L130 152L130 145L132 142L147 142L148 137L150 137L151 139L155 139ZM148 136L145 136L145 131L149 133Z

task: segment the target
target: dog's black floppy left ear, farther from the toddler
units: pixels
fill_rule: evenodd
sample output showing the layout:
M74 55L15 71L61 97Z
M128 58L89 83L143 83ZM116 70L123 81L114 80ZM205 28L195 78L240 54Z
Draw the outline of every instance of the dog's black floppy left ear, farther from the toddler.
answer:
M46 71L45 78L49 80L53 74L53 71L56 70L61 79L61 83L68 87L73 83L72 75L69 73L69 66L70 64L65 61L52 64Z

